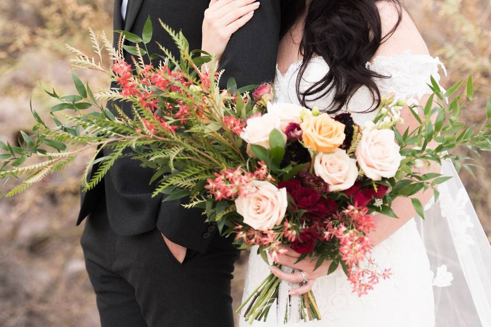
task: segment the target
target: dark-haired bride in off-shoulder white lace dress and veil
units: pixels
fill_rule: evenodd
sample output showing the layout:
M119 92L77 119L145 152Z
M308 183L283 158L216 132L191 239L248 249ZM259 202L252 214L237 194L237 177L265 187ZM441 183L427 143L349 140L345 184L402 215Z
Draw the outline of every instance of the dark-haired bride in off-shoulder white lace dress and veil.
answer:
M440 71L445 72L396 0L282 0L281 5L276 102L329 113L351 111L363 125L389 92L426 103L430 76L439 81ZM409 110L403 118L404 132L415 118ZM272 258L294 269L285 272L265 265L253 248L244 298L272 271L291 289L292 303L312 289L323 317L287 326L491 326L491 250L453 165L444 162L430 171L440 169L455 178L440 187L436 204L430 192L417 195L427 203L425 222L407 199L392 205L399 219L375 216L372 256L381 267L390 267L392 276L368 295L352 293L341 269L327 275L329 262L314 271L315 263L296 263L299 254L288 250ZM302 287L295 284L304 279L300 271L308 279ZM253 325L276 326L280 321L273 305L267 321ZM247 324L240 321L240 326Z

